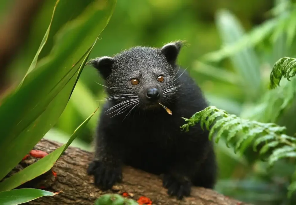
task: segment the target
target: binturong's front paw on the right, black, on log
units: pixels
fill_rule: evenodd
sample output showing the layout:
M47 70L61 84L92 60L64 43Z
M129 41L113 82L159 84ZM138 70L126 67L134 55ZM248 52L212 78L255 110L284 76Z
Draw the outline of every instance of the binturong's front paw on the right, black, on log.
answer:
M168 194L170 196L177 196L178 199L190 195L191 182L188 180L178 180L172 175L164 175L163 186L168 189Z

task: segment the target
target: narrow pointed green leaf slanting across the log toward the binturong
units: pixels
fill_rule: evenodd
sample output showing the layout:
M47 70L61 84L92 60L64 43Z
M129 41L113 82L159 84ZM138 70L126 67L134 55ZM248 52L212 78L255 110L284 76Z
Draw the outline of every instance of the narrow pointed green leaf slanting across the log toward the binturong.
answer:
M0 191L14 189L22 185L23 183L30 181L35 177L38 177L39 175L42 175L48 170L50 170L56 163L56 161L59 159L59 157L63 154L63 152L73 142L73 140L83 132L83 128L87 125L87 123L89 122L89 120L95 112L93 112L81 125L79 125L79 127L77 127L77 129L71 135L70 139L66 144L57 148L52 153L46 155L42 159L38 160L37 162L31 164L30 166L26 167L25 169L21 170L20 172L17 172L16 174L1 182Z

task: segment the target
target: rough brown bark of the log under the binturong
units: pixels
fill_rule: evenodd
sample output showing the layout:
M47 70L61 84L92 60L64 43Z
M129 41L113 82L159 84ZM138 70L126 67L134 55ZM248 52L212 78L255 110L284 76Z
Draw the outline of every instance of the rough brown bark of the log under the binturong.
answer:
M43 139L34 149L50 153L59 146L61 144ZM152 204L247 205L246 203L223 196L213 190L197 187L192 188L190 197L178 201L176 198L167 195L167 190L162 187L162 181L159 176L141 170L135 170L131 167L124 167L123 183L116 184L111 191L103 192L93 185L93 177L86 174L86 168L91 159L92 153L75 147L69 147L53 167L54 172L57 173L56 178L49 171L22 186L30 188L43 187L43 189L48 191L63 191L63 193L54 197L41 197L27 204L93 205L96 198L104 193L122 194L123 192L127 192L135 200L140 196L149 197L152 200ZM36 160L33 157L28 157L20 162L10 175Z

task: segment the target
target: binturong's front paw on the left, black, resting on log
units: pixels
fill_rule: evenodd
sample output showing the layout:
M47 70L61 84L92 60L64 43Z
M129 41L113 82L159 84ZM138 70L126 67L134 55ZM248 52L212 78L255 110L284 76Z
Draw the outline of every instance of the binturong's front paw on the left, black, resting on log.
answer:
M110 167L100 161L91 162L87 173L94 175L94 184L102 190L111 189L116 182L122 181L121 167Z

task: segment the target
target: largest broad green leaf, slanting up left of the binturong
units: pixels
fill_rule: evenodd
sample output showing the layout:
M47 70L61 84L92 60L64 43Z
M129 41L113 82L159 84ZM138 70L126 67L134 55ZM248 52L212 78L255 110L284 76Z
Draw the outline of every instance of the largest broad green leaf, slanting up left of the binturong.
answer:
M57 11L59 5L71 2L60 1ZM57 122L82 71L78 72L78 63L88 55L107 25L115 4L116 0L94 1L77 18L67 22L55 35L48 56L37 62L20 88L2 102L0 150L5 156L0 156L0 179Z

